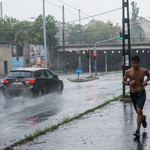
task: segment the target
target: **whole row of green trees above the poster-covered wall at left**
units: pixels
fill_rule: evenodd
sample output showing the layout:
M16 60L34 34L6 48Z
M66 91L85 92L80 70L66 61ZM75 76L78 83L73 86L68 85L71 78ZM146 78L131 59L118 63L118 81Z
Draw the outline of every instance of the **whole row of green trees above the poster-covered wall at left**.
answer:
M55 35L59 31L59 29L56 26L56 20L53 16L48 15L45 19L45 22L47 45L57 46L58 38L56 38ZM43 16L39 15L34 22L19 21L15 18L7 16L1 18L0 41L21 43L27 42L29 44L43 45Z

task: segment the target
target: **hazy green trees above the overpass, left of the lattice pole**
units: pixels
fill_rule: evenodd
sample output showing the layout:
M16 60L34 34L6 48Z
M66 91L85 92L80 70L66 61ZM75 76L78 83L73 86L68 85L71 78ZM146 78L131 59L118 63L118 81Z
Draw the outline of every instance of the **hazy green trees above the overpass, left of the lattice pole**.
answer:
M97 21L88 27L75 25L74 27L68 28L67 41L69 44L95 44L101 40L107 40L110 38L118 37L119 31L121 28L118 25L113 25L110 21L107 23L103 23L101 21ZM114 42L120 42L119 40L115 40Z

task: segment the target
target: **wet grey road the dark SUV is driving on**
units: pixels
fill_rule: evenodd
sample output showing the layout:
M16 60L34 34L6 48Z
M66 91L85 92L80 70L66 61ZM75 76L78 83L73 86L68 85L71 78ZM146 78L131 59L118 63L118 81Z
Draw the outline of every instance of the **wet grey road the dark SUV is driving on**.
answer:
M88 76L82 74L81 76ZM64 82L62 95L49 94L38 99L14 98L7 104L0 98L0 148L4 148L33 133L36 129L57 124L64 116L70 117L102 104L122 94L122 74L99 76L99 80L74 83L59 75Z

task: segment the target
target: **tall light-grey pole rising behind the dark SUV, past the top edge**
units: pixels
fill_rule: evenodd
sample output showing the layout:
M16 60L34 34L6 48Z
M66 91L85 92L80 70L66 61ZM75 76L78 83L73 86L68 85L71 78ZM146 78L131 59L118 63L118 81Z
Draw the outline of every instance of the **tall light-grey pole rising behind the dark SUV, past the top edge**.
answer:
M44 31L44 50L45 50L45 68L47 68L47 47L46 47L46 27L45 27L45 4L43 0L43 31Z

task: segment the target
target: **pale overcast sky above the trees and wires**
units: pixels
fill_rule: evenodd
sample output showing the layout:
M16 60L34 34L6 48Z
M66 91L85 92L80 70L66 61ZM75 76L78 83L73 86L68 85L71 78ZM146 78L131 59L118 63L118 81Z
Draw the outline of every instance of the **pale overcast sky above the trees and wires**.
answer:
M0 2L2 2L3 17L6 15L20 21L31 21L31 17L43 14L43 0L0 0ZM140 8L139 16L150 19L148 18L150 17L150 0L134 0L134 2ZM131 0L129 0L131 14L130 3ZM110 20L113 24L118 23L122 26L122 9L119 9L122 7L122 0L45 0L45 15L50 14L56 20L62 21L62 5L65 8L65 22L75 21L78 24L78 9L80 9L83 25L96 19L104 22ZM112 12L108 13L109 11Z

